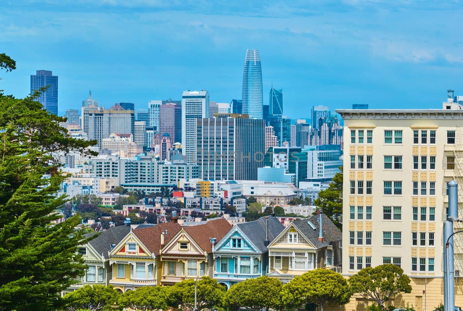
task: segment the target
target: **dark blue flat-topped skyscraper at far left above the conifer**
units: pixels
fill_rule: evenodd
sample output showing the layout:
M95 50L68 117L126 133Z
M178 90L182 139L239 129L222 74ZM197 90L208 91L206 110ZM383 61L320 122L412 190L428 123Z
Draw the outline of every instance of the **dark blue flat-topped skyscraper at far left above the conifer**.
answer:
M49 70L37 70L36 75L31 75L31 94L40 87L49 86L36 99L48 112L58 114L58 76L52 75Z

